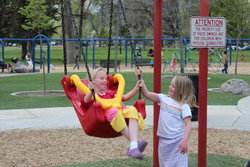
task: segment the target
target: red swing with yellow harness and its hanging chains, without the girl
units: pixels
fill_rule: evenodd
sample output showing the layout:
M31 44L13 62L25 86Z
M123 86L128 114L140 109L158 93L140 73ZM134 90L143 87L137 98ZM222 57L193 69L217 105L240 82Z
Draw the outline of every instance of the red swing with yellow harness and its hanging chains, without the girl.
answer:
M122 6L122 1L119 1L121 8L123 9ZM61 80L62 87L66 93L66 96L68 99L72 102L72 105L75 109L75 112L78 116L78 119L81 123L82 129L84 132L89 135L89 136L95 136L95 137L100 137L100 138L113 138L113 137L118 137L121 135L121 133L115 132L110 123L106 120L104 116L103 109L108 109L112 107L116 107L119 110L121 110L121 104L122 104L122 96L124 93L124 88L125 88L125 80L121 74L114 74L110 75L109 74L109 61L110 61L110 48L111 48L111 34L112 34L112 11L113 11L113 0L111 0L110 3L111 9L110 9L110 29L109 29L109 45L108 45L108 59L107 59L107 80L108 80L108 89L110 90L117 90L117 95L113 99L103 99L99 97L97 94L95 94L94 90L89 90L87 87L88 82L92 81L89 67L88 67L88 62L86 60L86 56L83 52L82 49L82 42L80 41L80 36L78 32L76 32L78 39L80 41L80 50L83 55L83 59L85 62L85 67L88 73L88 78L87 79L80 79L79 76L77 75L72 75L68 76L67 75L67 56L66 56L66 50L65 50L65 36L64 36L64 22L62 22L62 27L63 27L63 46L64 46L64 71L65 71L65 76ZM64 11L63 6L62 6L62 11ZM72 14L72 11L70 11ZM128 25L126 22L125 18L125 13L124 14L124 20L126 23L126 26ZM63 15L62 15L63 16ZM72 15L71 15L72 16ZM73 18L73 17L72 17ZM73 18L74 19L74 18ZM63 19L62 19L63 20ZM75 21L73 20L73 23ZM76 25L74 25L76 27ZM77 29L76 29L77 30ZM130 35L130 32L128 30L128 33ZM134 54L134 45L131 43L131 47L133 50ZM138 68L138 67L137 67ZM140 76L138 76L138 79L140 79ZM93 94L93 99L94 102L93 104L88 107L84 103L84 94L88 94L90 91L92 91ZM145 111L145 101L141 99L141 89L139 91L139 98L134 104L134 107L138 110L139 113L141 113L143 119L146 118L146 111Z

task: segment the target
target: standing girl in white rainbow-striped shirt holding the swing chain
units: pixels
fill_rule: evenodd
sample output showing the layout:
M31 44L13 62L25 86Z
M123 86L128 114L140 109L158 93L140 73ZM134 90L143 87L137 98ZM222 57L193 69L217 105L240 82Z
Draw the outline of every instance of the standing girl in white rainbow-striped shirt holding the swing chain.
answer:
M196 106L192 81L185 76L175 76L168 95L149 92L141 81L142 94L160 104L157 135L159 139L159 164L161 167L187 167L188 142L191 133L192 113Z

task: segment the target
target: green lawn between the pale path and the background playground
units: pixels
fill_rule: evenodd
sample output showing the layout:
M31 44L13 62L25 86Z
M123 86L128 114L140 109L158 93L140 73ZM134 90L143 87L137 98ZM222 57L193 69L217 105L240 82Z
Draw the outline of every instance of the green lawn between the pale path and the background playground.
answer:
M72 75L69 73L68 75ZM86 73L78 74L80 78L86 78ZM123 72L122 75L126 81L125 92L131 90L135 83L136 78L133 72ZM50 73L45 74L46 77L46 90L62 90L61 79L64 73ZM211 78L208 80L209 88L218 88L220 85L231 78L243 79L250 83L249 75L209 75ZM143 79L147 84L150 91L153 91L153 74L144 73ZM162 93L168 93L168 85L171 79L162 78ZM11 77L0 77L0 106L1 109L22 109L22 108L45 108L45 107L66 107L71 106L70 101L64 96L12 96L13 92L33 91L43 89L43 75L42 74L28 74L18 75ZM239 95L226 95L216 92L208 92L209 105L237 105L239 99L244 96ZM138 99L138 94L131 100L125 102L132 105ZM145 98L144 98L145 99ZM146 99L147 104L153 104Z

